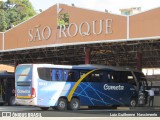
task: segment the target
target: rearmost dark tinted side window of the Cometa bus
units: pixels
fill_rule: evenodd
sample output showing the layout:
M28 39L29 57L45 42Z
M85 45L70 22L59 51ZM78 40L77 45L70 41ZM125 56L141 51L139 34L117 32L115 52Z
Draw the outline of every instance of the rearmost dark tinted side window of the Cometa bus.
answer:
M38 68L38 75L40 79L50 81L51 69L50 68Z

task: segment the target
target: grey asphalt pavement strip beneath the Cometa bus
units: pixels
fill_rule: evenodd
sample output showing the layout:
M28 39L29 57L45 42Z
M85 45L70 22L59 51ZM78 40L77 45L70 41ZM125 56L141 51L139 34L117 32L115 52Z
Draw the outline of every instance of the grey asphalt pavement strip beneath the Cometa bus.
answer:
M117 109L88 109L78 111L42 111L33 106L0 106L0 117L160 117L160 107L118 107Z

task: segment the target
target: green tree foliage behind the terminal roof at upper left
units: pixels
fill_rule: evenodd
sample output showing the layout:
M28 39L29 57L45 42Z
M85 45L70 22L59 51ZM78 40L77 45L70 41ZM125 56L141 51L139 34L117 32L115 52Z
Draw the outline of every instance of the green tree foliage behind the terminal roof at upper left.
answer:
M17 25L36 12L29 0L7 0L0 2L0 31L10 29L12 25Z

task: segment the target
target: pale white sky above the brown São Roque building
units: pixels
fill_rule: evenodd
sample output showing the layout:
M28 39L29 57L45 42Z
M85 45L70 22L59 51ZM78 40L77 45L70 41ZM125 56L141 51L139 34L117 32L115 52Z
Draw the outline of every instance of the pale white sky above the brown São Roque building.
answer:
M111 13L120 14L119 9L141 7L141 11L160 7L160 0L29 0L34 9L43 11L57 4L74 4L76 7L97 11L107 9Z

